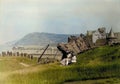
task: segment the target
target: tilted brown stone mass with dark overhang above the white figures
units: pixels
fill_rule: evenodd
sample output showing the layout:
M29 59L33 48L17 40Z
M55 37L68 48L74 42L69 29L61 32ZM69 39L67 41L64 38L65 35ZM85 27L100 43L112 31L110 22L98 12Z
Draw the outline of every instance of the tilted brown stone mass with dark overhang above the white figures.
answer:
M88 40L84 35L80 35L79 37L70 36L68 37L68 43L59 43L57 48L63 53L63 58L66 57L68 52L73 52L77 55L91 48Z

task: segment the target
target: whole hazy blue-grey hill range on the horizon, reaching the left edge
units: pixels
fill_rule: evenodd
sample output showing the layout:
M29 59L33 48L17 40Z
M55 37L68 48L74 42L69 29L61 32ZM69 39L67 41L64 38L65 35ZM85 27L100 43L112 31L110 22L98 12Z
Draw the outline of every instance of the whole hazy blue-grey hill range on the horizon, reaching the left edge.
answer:
M73 34L53 34L53 33L29 33L19 40L7 42L0 45L0 52L11 50L14 46L46 46L50 44L51 46L56 46L58 43L67 42L67 39ZM76 34L78 36L78 34ZM75 36L76 36L75 35Z

